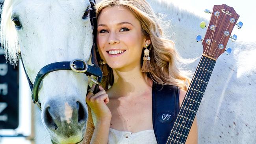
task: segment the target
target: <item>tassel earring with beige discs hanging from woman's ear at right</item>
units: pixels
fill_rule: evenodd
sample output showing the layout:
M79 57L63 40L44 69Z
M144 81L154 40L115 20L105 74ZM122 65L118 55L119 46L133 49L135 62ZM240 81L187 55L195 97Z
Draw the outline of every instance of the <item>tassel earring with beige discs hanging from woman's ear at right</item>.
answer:
M144 50L143 65L141 67L141 72L151 72L154 68L150 65L148 44L145 44L145 47L146 49Z

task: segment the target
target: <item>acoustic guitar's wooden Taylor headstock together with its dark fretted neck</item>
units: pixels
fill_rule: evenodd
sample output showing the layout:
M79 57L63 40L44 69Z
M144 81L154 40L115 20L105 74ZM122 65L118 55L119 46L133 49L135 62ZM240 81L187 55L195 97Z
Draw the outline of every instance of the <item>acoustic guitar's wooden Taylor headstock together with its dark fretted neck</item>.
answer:
M204 39L200 35L196 38L197 42L202 41L203 54L166 144L185 144L214 65L221 54L231 53L226 44L229 38L233 42L237 39L236 35L230 35L235 25L238 29L243 26L242 22L237 23L239 15L234 8L225 4L214 5L212 12L207 9L205 12L211 14L209 25L206 22L200 24L201 28L207 28L206 35Z

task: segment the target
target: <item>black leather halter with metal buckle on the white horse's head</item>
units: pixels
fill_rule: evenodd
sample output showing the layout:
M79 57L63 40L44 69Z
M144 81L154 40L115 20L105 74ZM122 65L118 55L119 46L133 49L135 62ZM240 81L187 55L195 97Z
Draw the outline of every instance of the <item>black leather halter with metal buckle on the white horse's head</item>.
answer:
M90 9L90 20L91 20L91 26L93 28L93 46L92 46L92 50L91 50L91 54L92 54L92 66L88 65L85 61L83 61L82 59L74 59L73 61L61 61L61 62L56 62L56 63L51 63L49 65L44 66L43 68L41 68L41 70L39 70L36 78L35 78L35 82L34 84L31 82L30 78L28 77L28 74L26 72L26 69L24 67L24 63L23 63L23 59L22 56L19 54L20 60L22 62L22 66L24 68L25 74L26 74L26 78L28 80L28 84L30 86L30 89L32 91L32 100L34 103L36 103L39 107L39 109L41 110L41 103L38 100L38 90L39 90L39 86L41 84L41 81L43 80L43 78L50 72L54 72L57 70L72 70L74 72L78 72L78 73L84 73L88 76L89 79L91 79L91 81L93 81L94 83L96 83L95 86L95 91L94 93L98 92L98 86L99 83L102 80L102 71L100 69L100 67L98 66L98 62L96 60L95 57L95 49L96 49L96 28L97 28L97 21L96 21L96 10L94 7L95 1L91 0L91 9ZM95 76L97 79L94 80L93 78L91 78L91 76Z

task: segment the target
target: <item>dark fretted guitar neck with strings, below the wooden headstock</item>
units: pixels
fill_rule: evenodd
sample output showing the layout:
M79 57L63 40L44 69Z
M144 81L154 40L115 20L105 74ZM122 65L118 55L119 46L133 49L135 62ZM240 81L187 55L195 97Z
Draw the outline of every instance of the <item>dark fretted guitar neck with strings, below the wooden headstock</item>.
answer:
M185 144L215 63L215 59L202 55L168 137L167 144Z

